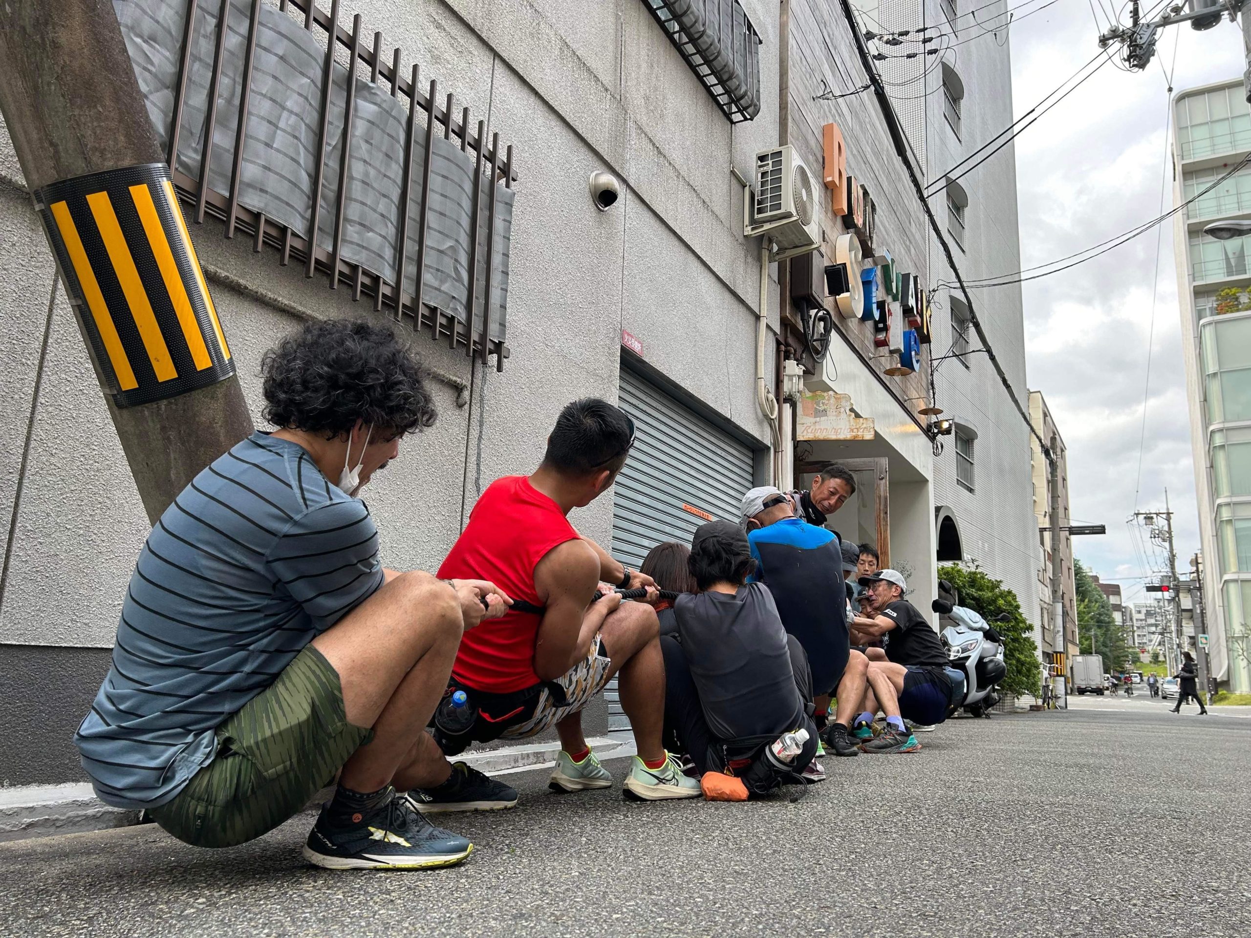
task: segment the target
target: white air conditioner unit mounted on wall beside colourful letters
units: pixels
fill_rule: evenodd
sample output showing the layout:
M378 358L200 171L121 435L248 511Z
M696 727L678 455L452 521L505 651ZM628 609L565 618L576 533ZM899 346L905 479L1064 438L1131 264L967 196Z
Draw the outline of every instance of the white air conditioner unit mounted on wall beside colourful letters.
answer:
M817 189L793 146L756 154L756 190L746 235L774 245L774 260L804 254L821 243Z

